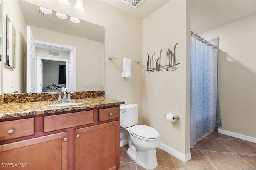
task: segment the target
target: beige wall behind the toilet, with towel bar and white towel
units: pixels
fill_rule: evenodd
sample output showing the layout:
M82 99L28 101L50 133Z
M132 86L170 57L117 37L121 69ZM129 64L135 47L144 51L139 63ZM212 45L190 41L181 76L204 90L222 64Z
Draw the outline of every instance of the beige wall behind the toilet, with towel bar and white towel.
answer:
M142 63L132 62L132 77L122 77L122 60L142 61L142 20L102 1L86 1L85 20L105 28L105 95L139 105L138 123L142 123Z

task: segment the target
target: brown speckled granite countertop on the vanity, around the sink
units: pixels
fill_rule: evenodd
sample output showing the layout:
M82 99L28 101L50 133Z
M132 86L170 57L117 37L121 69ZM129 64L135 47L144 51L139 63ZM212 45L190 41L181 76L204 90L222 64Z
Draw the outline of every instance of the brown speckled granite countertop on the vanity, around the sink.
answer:
M69 105L69 106L48 106L58 103L66 102L81 102L80 105ZM0 114L3 116L1 119L22 117L28 115L42 115L48 113L74 111L80 109L91 109L96 107L106 107L124 104L124 101L110 99L106 97L95 97L86 99L72 99L70 101L38 101L38 102L27 102L27 103L9 103L0 105Z

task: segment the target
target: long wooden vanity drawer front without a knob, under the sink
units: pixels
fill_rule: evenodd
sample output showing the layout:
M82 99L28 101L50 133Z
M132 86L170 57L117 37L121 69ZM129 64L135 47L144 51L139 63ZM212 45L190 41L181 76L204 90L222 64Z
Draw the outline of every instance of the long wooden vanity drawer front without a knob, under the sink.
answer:
M93 123L93 111L82 111L44 117L44 132Z

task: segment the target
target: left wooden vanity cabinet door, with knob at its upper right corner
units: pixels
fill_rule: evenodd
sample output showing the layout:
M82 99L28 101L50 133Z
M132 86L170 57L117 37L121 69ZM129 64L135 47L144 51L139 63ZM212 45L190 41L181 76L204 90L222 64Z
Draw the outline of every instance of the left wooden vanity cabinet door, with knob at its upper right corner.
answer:
M68 132L51 134L0 146L1 170L66 170Z

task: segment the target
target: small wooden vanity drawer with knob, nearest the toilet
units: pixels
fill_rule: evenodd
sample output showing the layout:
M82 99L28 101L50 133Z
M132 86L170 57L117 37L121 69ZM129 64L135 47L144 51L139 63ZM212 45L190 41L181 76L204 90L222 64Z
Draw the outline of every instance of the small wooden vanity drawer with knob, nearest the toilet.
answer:
M119 115L120 115L120 107L110 107L106 109L99 109L99 122L119 118Z

